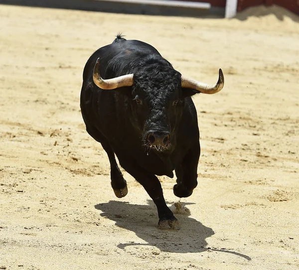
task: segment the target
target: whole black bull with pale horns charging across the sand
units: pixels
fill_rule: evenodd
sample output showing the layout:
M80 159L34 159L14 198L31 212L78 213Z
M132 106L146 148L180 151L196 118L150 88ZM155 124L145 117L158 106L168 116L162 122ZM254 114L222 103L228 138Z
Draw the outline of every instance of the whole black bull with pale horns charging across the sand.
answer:
M117 197L128 193L116 154L155 203L160 229L178 230L179 224L156 175L172 178L175 170L174 195L192 194L200 145L191 96L219 92L223 83L221 69L214 86L186 79L154 47L120 35L85 65L81 112L87 132L108 154L112 188Z

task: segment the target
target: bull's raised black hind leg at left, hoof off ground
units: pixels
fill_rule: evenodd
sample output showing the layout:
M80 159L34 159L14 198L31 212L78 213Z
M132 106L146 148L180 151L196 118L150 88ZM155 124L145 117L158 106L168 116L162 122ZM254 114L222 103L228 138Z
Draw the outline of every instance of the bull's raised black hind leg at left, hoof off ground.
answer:
M93 129L87 129L87 132L95 140L101 142L104 150L108 155L109 162L110 162L111 186L113 188L115 195L118 198L125 197L128 194L127 182L124 179L119 166L117 165L117 162L115 160L115 154L112 147L110 146L107 139L98 130L94 131Z

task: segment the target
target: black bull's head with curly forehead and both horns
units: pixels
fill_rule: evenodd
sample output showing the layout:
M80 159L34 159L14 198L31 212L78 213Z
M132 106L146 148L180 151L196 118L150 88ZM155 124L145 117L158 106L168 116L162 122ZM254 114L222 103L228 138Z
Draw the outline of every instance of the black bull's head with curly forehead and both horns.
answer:
M219 69L219 79L215 85L208 85L181 76L171 66L150 65L134 74L104 80L99 73L98 58L93 72L94 83L104 90L132 86L130 108L132 124L141 133L145 146L156 151L174 149L175 129L180 123L184 99L196 93L215 94L224 85L224 76ZM150 76L150 73L154 73ZM151 79L152 78L152 79Z

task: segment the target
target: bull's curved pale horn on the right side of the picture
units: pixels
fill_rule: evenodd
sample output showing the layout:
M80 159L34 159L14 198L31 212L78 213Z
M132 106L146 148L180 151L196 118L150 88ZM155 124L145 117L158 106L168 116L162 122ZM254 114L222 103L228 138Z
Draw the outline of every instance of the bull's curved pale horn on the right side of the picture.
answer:
M218 82L215 85L209 85L201 83L192 79L181 77L181 87L182 88L191 88L203 94L215 94L223 88L224 85L224 76L221 68L219 69L219 78Z

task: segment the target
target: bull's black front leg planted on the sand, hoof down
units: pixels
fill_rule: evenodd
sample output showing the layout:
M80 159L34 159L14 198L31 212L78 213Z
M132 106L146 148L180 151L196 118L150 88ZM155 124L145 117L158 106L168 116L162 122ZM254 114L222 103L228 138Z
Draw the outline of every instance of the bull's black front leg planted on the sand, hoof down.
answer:
M166 205L159 179L140 167L135 160L128 158L128 156L122 158L118 153L117 156L121 166L142 184L156 205L159 217L158 228L162 230L179 230L177 219Z

